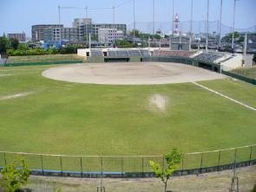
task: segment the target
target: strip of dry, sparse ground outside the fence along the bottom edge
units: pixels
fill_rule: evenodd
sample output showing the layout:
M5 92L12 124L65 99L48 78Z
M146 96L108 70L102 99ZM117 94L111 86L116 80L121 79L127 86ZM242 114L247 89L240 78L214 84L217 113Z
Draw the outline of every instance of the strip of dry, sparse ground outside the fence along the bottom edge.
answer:
M177 176L168 182L168 190L185 192L226 192L231 186L232 170L201 174L199 176ZM240 181L240 191L250 192L256 183L256 166L237 170ZM62 191L82 192L96 191L100 179L64 178L47 176L30 176L29 188L33 191ZM113 192L161 192L163 184L156 178L111 179L104 178L106 191Z

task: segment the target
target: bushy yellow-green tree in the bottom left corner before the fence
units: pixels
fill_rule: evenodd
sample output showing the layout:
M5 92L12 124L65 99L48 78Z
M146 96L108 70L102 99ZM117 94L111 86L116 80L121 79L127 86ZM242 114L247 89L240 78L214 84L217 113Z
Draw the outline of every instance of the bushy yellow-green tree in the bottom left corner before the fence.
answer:
M22 167L20 169L16 169L16 167L19 167L20 165L22 165ZM21 159L21 164L17 162L8 164L3 168L1 173L3 180L7 181L7 192L16 192L28 183L30 176L30 170L28 170L28 166L25 164L23 159Z

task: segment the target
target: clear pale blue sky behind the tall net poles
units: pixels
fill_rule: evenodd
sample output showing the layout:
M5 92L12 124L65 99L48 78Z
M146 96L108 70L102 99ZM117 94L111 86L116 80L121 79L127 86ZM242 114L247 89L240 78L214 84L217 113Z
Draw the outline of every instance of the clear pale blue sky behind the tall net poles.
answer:
M181 22L190 20L192 0L174 0L174 13L180 15ZM209 21L220 18L220 0L209 0ZM223 0L222 23L233 25L233 1ZM172 21L173 0L155 0L155 21L170 24ZM0 35L21 33L31 35L35 24L57 24L58 5L62 7L86 7L93 22L113 22L113 10L94 10L98 8L115 9L115 23L133 23L132 0L0 0ZM90 10L91 9L91 10ZM71 27L74 18L86 17L85 10L61 10L61 22ZM194 21L207 20L207 0L194 0ZM153 0L135 0L135 21L153 21ZM247 29L256 26L256 0L237 0L235 28ZM254 28L255 29L255 28Z

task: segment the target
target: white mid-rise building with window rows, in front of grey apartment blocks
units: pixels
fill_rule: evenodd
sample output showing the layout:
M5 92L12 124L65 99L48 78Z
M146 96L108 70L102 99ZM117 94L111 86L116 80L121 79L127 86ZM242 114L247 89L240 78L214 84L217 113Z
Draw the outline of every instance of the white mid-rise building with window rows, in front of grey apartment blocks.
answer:
M113 44L116 40L123 39L123 31L117 29L99 29L98 40L101 43Z

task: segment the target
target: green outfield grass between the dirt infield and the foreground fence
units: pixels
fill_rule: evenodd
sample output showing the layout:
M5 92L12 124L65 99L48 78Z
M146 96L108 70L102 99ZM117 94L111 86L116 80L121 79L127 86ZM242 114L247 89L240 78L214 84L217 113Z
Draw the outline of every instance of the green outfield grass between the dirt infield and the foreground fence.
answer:
M174 146L193 152L256 143L256 112L192 83L76 84L42 77L43 67L0 68L0 98L30 93L0 100L0 150L161 155ZM256 107L255 86L239 80L200 84ZM166 112L149 105L155 93L167 97Z

